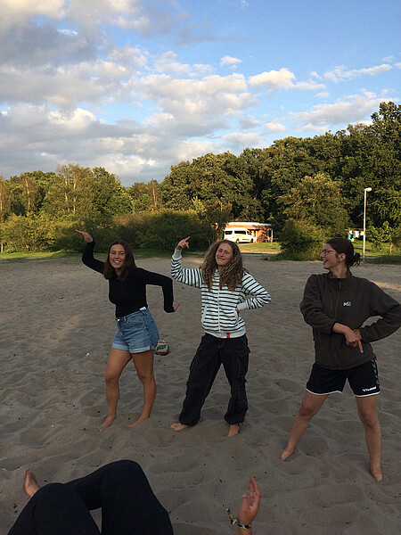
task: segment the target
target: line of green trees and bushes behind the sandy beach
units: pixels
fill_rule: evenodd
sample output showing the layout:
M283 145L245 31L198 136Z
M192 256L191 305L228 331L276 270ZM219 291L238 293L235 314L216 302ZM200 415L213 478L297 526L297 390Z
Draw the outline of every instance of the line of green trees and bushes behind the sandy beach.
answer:
M232 219L271 223L282 243L367 227L377 243L401 226L401 106L381 103L372 123L335 134L286 137L264 149L182 161L161 182L129 187L103 168L0 177L0 242L7 251L80 250L75 226L101 247L116 236L135 248L170 250L176 236L203 247ZM188 229L188 230L185 230ZM183 234L183 235L184 235Z

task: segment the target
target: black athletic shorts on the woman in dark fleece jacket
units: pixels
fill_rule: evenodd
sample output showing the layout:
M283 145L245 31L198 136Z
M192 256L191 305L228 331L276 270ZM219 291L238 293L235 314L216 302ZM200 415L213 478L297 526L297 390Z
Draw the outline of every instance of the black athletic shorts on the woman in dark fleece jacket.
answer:
M318 395L342 392L347 379L358 398L372 396L381 391L376 358L348 370L331 370L315 362L307 382L307 391Z

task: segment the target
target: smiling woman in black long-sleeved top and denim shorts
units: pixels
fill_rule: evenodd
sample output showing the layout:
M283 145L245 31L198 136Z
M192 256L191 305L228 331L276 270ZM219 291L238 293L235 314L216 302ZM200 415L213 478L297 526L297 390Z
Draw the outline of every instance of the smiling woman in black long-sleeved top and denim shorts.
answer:
M153 357L159 339L157 325L147 308L146 284L161 286L164 310L175 312L178 305L173 307L173 283L168 276L136 268L134 255L126 242L111 243L105 262L94 259L94 239L87 232L76 232L86 241L82 261L109 280L109 299L116 305L118 332L111 345L104 375L108 416L99 431L104 431L116 418L119 377L131 358L143 383L143 412L131 426L139 424L151 416L156 397Z

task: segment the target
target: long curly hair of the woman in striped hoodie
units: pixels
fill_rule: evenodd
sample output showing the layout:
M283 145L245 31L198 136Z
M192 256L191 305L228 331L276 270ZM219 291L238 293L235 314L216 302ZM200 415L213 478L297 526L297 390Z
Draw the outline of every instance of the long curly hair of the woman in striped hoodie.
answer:
M235 287L238 284L241 284L243 273L246 271L242 267L240 248L235 242L231 242L230 240L221 240L220 242L213 243L213 245L209 247L209 250L207 251L201 265L201 272L203 274L205 283L209 288L209 292L213 284L213 276L218 268L216 262L216 252L223 243L230 245L233 250L233 258L225 267L220 268L220 288L225 284L228 286L229 290L235 290Z

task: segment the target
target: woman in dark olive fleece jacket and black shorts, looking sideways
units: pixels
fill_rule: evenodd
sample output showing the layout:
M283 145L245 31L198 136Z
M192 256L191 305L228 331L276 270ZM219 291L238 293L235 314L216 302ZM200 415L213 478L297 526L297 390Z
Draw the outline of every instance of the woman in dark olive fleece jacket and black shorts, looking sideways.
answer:
M364 424L371 473L381 481L381 426L376 407L380 384L370 342L397 331L401 306L376 284L352 276L349 268L359 263L360 255L346 238L325 243L321 258L329 273L309 277L300 303L314 332L315 364L282 460L294 452L324 400L332 392L342 391L348 379ZM377 316L380 319L362 326L369 317Z

